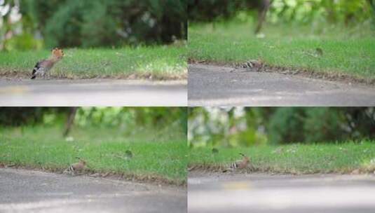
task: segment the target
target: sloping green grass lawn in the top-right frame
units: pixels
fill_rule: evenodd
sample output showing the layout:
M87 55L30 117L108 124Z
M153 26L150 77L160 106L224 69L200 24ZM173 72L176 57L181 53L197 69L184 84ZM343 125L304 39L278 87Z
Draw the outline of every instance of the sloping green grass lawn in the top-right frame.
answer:
M370 28L266 24L265 37L259 39L247 22L191 23L188 57L219 64L262 60L270 66L347 74L371 82L375 81L375 33Z

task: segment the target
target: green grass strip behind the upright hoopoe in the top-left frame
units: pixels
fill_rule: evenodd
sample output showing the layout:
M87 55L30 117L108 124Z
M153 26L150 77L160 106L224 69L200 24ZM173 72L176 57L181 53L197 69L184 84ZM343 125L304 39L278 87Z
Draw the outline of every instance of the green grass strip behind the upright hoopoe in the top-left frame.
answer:
M118 49L64 49L65 57L51 71L56 78L186 78L186 46L144 46ZM31 75L50 50L0 52L0 75Z

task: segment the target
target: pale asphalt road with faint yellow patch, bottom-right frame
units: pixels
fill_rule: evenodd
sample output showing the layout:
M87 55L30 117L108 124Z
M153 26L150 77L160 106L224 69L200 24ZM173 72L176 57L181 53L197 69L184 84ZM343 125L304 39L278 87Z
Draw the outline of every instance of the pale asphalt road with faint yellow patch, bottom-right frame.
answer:
M189 213L375 212L375 175L189 173Z

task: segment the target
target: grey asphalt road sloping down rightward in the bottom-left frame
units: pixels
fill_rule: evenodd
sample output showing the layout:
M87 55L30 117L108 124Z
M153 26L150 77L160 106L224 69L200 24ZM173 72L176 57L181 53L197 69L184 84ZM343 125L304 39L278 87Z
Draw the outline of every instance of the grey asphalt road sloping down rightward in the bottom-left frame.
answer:
M186 212L186 189L0 169L0 212Z

